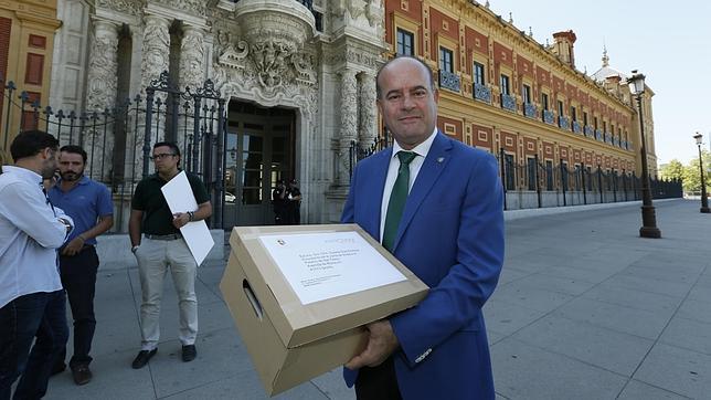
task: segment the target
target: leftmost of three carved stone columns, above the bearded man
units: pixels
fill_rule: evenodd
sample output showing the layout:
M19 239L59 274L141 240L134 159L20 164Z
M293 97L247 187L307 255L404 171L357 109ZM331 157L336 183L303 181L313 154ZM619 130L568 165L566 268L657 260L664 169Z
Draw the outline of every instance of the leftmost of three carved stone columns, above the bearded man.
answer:
M93 41L87 71L86 112L97 118L86 122L82 146L87 152L85 175L107 181L110 178L114 148L113 117L104 115L116 105L118 25L94 19ZM106 125L110 124L110 125ZM105 126L106 125L106 126Z

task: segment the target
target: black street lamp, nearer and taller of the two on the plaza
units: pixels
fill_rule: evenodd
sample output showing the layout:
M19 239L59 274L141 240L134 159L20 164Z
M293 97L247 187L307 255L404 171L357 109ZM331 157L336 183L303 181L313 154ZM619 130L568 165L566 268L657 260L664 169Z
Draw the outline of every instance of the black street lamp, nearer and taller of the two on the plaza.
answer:
M649 190L649 170L647 169L647 146L645 139L645 122L641 115L641 94L645 93L645 75L632 72L627 80L629 91L637 97L637 109L639 112L639 135L641 136L641 238L661 238L661 231L657 228L655 207L651 204L651 192Z

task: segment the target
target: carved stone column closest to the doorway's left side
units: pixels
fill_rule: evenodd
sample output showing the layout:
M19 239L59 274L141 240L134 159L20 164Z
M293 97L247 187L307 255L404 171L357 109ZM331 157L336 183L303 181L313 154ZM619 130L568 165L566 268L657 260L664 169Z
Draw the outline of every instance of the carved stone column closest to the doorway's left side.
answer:
M204 55L205 55L205 45L204 45L204 30L202 28L185 25L183 29L182 43L180 46L180 83L178 87L180 91L184 91L185 86L189 86L192 93L204 83L205 69ZM182 106L185 101L182 99L179 106L179 114L184 113L185 108ZM190 108L188 110L190 115L194 113L192 107L192 102L190 102ZM188 140L192 138L188 135L192 134L191 118L188 118L188 126L185 127L185 119L180 118L178 120L178 135L177 141L178 146L184 148L184 151L188 150L185 146ZM188 159L188 155L183 157Z

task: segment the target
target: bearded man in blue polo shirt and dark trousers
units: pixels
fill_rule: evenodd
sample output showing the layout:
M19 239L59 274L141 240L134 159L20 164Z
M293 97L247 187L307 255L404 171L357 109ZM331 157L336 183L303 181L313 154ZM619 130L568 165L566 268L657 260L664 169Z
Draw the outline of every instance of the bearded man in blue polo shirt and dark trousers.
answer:
M88 366L89 350L96 327L94 317L94 292L98 255L96 236L114 224L112 194L106 186L84 176L86 151L79 146L60 149L61 179L50 189L52 204L60 207L74 220L74 231L60 249L60 274L66 290L74 317L74 356L70 360L72 377L76 385L92 380ZM54 371L64 370L66 347L56 360Z

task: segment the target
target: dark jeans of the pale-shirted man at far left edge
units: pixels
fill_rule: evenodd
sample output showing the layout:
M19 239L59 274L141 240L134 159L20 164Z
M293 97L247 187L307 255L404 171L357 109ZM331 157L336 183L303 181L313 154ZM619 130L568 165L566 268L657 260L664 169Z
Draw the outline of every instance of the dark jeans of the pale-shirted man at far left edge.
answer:
M20 296L0 308L0 400L10 399L20 375L14 399L46 393L52 366L68 336L65 303L61 290Z

